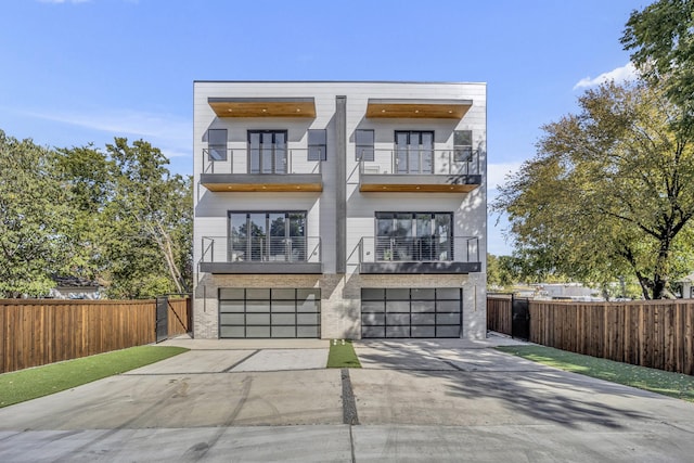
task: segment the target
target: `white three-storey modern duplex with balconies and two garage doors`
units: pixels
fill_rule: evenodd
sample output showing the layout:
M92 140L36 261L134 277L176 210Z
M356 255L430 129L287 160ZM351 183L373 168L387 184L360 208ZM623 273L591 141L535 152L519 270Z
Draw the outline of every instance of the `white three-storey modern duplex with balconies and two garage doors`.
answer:
M197 338L486 336L485 83L194 82Z

